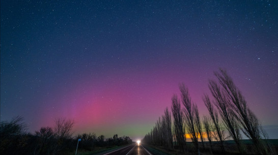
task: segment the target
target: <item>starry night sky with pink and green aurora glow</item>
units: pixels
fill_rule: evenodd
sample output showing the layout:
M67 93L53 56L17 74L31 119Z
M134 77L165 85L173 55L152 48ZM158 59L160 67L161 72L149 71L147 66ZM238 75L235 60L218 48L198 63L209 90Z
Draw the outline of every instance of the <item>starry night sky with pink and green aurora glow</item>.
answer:
M278 138L277 1L1 1L1 120L143 138L224 68Z

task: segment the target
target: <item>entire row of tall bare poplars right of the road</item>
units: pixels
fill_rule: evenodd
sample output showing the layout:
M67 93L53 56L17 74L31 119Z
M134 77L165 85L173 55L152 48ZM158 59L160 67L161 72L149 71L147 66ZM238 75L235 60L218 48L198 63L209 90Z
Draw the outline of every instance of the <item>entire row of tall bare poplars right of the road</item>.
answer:
M227 71L219 69L214 75L216 80L209 80L208 84L211 96L203 95L208 116L200 118L197 104L192 102L188 88L181 83L180 99L177 95L172 97L173 122L171 113L166 108L162 119L158 118L142 142L172 150L175 141L181 152L200 154L201 150L205 150L204 137L206 137L211 154L213 147L218 147L222 154L226 154L225 140L230 138L234 140L238 152L246 154L247 150L242 144L244 134L252 140L259 154L274 154L270 144L262 140L268 139L267 133ZM193 148L186 143L185 135L189 135ZM213 145L215 141L217 146Z

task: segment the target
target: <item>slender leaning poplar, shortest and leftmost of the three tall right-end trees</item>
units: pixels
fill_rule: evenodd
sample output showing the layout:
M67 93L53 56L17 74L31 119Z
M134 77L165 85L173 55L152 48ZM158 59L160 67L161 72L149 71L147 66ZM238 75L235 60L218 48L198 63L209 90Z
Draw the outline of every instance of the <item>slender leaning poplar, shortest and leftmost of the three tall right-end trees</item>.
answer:
M224 141L224 134L223 132L221 131L221 128L220 128L220 123L219 123L219 120L218 120L218 114L216 111L214 111L214 108L213 108L213 105L211 104L211 101L208 97L208 95L205 95L203 97L203 101L209 111L209 115L212 119L212 122L213 122L213 131L216 131L216 135L214 134L214 138L220 142L220 148L221 148L221 151L224 153L225 152L225 148L224 148L224 144L223 144L223 141Z

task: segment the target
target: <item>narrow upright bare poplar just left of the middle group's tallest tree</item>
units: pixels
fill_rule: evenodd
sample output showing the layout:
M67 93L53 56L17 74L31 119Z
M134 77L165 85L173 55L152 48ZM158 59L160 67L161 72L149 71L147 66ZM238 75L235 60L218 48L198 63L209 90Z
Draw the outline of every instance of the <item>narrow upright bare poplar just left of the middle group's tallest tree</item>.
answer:
M184 152L184 146L186 146L184 140L184 121L182 117L182 110L180 101L178 100L177 95L173 95L172 97L172 113L174 117L174 130L175 131L175 138L178 141L178 145L181 151Z

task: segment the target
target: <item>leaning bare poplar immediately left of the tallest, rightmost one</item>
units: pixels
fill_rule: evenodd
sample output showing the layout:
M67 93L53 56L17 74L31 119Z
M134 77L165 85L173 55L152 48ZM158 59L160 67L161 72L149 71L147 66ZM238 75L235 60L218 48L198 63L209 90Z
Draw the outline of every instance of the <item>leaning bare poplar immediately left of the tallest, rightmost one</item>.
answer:
M226 92L221 90L220 86L212 80L209 81L209 89L214 98L213 103L219 110L226 129L229 131L230 136L234 139L240 153L244 154L240 141L242 138L240 134L239 122L237 121L236 114L230 106L231 103Z

